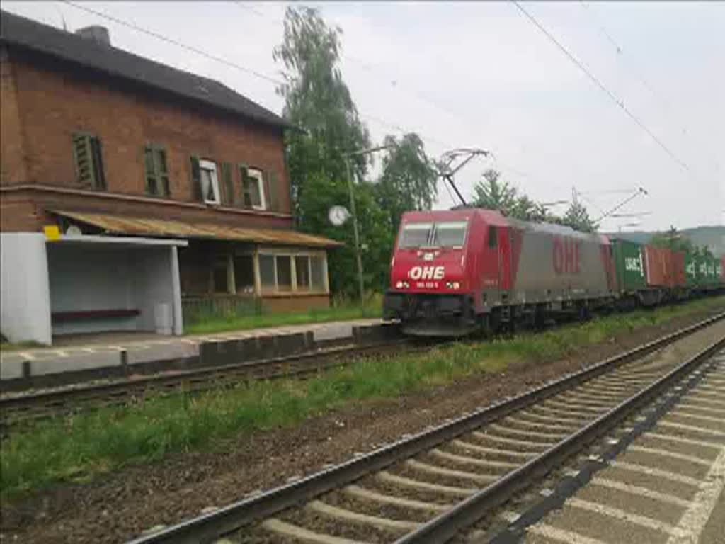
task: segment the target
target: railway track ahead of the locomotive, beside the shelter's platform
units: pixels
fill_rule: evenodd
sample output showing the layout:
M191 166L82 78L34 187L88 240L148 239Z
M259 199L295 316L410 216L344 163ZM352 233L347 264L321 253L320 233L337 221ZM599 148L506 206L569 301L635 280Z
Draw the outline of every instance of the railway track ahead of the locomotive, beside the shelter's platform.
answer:
M41 392L8 394L0 397L0 427L7 429L10 426L51 416L62 416L103 405L133 403L152 395L169 395L180 390L199 393L254 380L305 378L330 368L345 366L363 356L385 355L402 348L424 349L401 339L363 347L339 347L315 353L257 360L251 363L173 371L100 384L59 387Z

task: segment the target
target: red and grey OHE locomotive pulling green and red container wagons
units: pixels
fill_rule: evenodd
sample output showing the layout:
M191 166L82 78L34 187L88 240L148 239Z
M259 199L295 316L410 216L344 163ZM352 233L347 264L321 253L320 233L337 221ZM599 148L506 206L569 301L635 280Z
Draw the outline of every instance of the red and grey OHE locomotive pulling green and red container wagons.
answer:
M409 212L384 316L406 334L463 336L657 305L725 286L725 257L685 253L494 210Z

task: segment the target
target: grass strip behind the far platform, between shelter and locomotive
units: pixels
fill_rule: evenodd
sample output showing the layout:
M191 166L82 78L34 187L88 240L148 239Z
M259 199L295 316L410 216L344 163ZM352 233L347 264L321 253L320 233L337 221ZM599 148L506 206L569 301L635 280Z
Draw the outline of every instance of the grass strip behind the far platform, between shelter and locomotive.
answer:
M260 315L208 316L184 327L186 334L212 334L225 331L242 331L304 323L328 321L352 321L354 319L379 318L383 315L382 299L360 303L336 302L331 308L308 310L302 313L262 313Z

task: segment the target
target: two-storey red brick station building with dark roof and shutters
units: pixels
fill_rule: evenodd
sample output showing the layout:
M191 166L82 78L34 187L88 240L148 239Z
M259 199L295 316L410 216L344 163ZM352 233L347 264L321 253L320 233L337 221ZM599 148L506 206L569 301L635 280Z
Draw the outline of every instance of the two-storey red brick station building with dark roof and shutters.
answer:
M105 28L69 33L7 12L0 85L3 233L188 240L185 315L210 301L328 305L336 242L294 231L283 132L295 129L278 115L113 47Z

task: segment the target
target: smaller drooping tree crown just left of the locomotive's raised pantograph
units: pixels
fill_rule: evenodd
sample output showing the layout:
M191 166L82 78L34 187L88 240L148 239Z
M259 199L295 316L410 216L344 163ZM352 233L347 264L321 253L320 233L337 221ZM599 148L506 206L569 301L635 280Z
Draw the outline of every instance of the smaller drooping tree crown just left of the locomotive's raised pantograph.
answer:
M409 210L430 210L438 194L438 168L426 154L418 134L401 139L386 136L390 146L383 158L383 172L375 185L378 204L389 216L389 228L397 232L401 215Z

